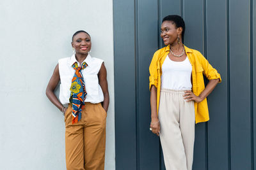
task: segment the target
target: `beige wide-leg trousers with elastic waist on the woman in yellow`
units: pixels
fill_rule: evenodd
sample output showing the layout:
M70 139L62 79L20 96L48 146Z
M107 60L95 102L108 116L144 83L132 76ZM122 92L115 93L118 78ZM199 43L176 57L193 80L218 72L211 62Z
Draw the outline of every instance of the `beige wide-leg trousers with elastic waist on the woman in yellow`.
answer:
M166 170L191 170L195 141L193 101L185 101L184 90L161 89L159 103L160 140Z

